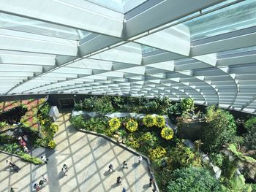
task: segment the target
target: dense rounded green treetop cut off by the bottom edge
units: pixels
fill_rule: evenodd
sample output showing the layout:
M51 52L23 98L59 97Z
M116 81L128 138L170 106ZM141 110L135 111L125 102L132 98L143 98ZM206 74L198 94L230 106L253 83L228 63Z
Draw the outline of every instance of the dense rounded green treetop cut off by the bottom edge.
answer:
M171 174L171 180L167 185L167 191L221 191L221 185L211 175L208 169L199 167L185 167L182 169L176 169L173 174Z

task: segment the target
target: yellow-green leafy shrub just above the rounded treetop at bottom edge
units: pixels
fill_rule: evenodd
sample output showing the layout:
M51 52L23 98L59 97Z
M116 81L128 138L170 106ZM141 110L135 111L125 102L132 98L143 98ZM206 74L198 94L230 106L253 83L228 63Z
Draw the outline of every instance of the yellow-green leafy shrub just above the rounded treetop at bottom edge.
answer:
M167 168L174 170L185 166L201 166L201 157L197 152L178 142L176 147L170 150L170 157L167 158Z

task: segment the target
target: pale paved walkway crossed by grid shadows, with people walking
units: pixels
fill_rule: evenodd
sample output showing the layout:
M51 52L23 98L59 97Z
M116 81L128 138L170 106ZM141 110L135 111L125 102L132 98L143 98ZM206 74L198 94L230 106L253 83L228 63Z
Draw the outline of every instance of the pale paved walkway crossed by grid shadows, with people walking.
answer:
M33 191L32 184L39 183L42 174L46 174L49 185L42 191L113 191L121 192L126 187L130 192L152 191L148 188L149 173L146 161L138 165L138 159L132 153L108 142L101 137L75 131L69 123L70 114L60 114L58 119L59 131L55 141L57 147L46 155L49 163L34 166L20 161L19 158L0 153L0 192L7 192L10 187L17 191ZM37 154L37 153L35 153ZM41 154L37 154L39 156ZM42 154L45 155L45 154ZM7 169L6 159L20 166L16 173ZM122 169L121 164L126 160L129 169ZM108 172L112 163L115 172ZM69 166L67 176L61 174L63 164ZM116 177L122 178L122 185L116 185Z

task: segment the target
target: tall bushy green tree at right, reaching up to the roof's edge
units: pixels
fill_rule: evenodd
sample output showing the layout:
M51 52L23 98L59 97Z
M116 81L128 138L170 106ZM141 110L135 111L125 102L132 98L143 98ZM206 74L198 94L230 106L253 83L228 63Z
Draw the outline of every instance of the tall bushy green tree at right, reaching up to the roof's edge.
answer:
M206 122L202 136L203 151L218 153L224 143L236 139L236 123L229 112L208 107Z

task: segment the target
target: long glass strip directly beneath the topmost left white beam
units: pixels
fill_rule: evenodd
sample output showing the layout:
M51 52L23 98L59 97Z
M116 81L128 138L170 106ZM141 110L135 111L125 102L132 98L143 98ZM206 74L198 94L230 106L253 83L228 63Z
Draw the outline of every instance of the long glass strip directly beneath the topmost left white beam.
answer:
M91 34L91 32L88 31L68 28L29 18L22 18L15 15L8 15L5 13L0 13L0 28L71 40L80 40Z

